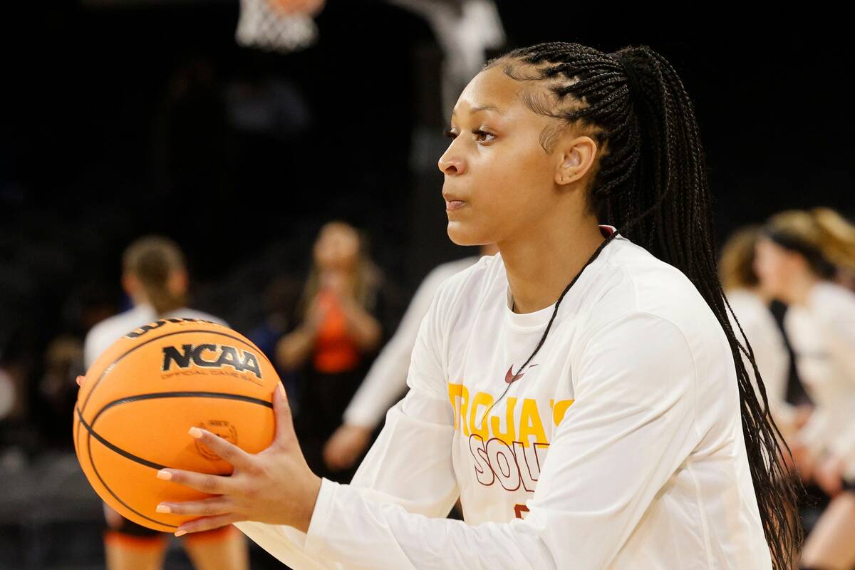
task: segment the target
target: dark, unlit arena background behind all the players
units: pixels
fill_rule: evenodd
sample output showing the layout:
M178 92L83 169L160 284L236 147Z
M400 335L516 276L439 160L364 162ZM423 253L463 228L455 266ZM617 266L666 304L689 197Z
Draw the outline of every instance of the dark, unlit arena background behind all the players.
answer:
M272 357L321 226L344 220L383 275L387 340L433 267L475 255L446 235L437 160L457 95L504 50L563 40L667 57L695 103L719 245L786 209L855 217L855 56L828 22L327 0L308 44L264 49L237 41L238 0L19 4L0 90L0 568L105 567L102 503L70 428L86 333L133 304L127 246L173 239L189 306ZM434 17L469 4L496 17ZM298 374L281 376L310 414ZM806 531L828 502L812 489ZM281 567L247 542L251 567ZM193 567L174 538L163 564Z

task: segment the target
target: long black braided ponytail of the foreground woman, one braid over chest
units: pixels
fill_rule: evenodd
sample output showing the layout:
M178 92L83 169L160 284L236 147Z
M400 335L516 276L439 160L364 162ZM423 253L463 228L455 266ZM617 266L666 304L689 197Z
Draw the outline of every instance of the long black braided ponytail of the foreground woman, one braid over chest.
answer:
M751 344L735 315L745 344L728 319L727 311L733 314L733 309L717 275L705 154L693 103L681 79L646 45L604 53L580 44L549 42L511 50L486 62L482 71L494 66L502 66L511 79L531 83L535 88L522 91L522 102L534 113L556 119L540 133L545 152L554 149L568 126L587 132L598 144L588 209L617 231L599 245L579 274L620 233L679 268L716 315L734 356L742 431L766 541L775 568L791 567L793 551L803 538L798 521L790 517L798 491L783 462L783 438L769 414ZM558 307L579 274L558 297L540 343L520 373L543 346ZM751 362L758 392L740 352Z

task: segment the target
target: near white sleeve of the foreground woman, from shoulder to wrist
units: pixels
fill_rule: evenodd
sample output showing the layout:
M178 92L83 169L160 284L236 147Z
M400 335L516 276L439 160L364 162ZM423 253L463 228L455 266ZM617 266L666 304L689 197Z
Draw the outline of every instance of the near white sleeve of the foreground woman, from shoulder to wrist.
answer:
M594 333L573 375L524 520L431 519L324 479L306 551L364 569L609 567L699 441L695 363L675 325L639 312Z

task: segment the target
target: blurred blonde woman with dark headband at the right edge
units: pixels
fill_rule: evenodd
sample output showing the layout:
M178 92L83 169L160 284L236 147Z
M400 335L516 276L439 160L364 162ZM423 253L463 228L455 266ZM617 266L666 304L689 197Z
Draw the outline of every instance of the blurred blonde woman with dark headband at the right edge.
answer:
M758 239L755 267L764 289L789 307L784 327L816 405L793 438L793 457L803 478L834 497L805 543L802 567L848 570L855 565L855 293L835 279L855 268L855 226L826 208L776 214Z

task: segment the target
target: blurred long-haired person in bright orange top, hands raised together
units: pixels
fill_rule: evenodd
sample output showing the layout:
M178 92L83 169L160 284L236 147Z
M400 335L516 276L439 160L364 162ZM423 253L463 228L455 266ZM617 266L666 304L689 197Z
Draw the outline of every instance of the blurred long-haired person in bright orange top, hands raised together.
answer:
M313 259L299 324L281 339L276 356L286 370L301 371L297 429L306 461L315 473L347 482L352 471L333 475L321 450L389 329L389 294L359 233L345 222L321 228Z

